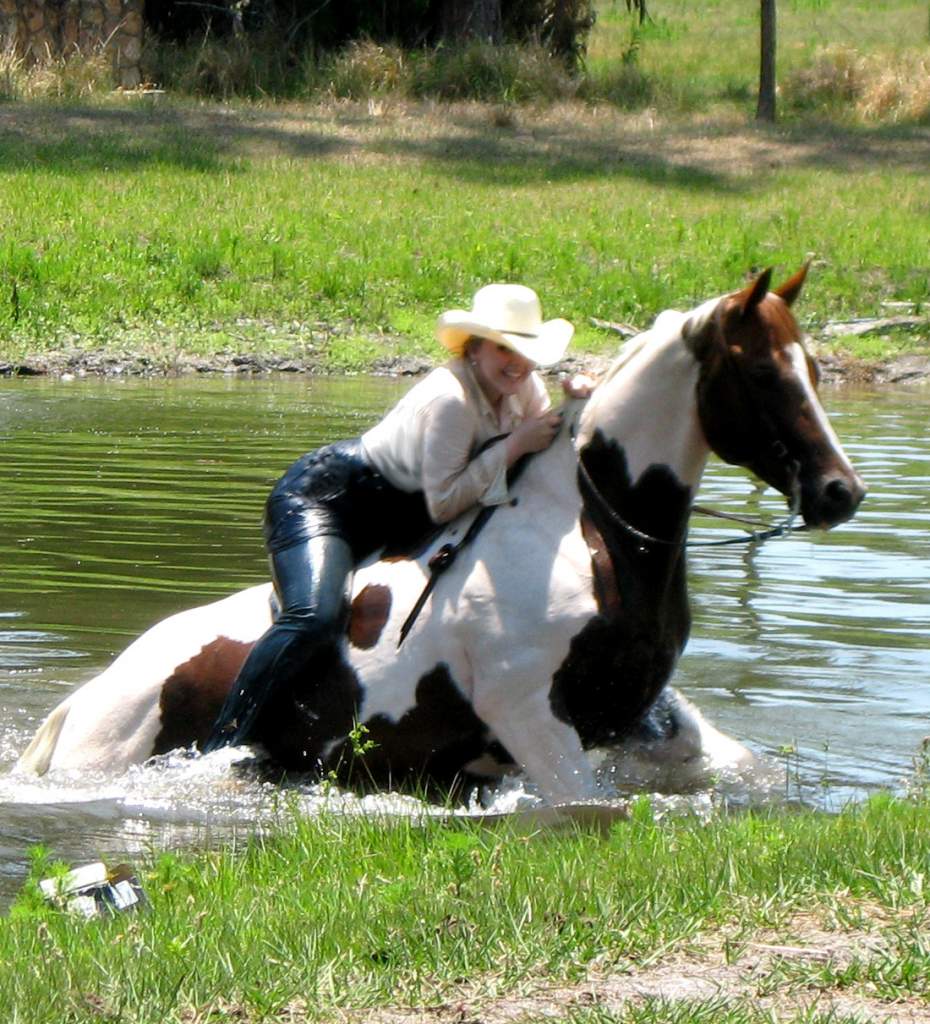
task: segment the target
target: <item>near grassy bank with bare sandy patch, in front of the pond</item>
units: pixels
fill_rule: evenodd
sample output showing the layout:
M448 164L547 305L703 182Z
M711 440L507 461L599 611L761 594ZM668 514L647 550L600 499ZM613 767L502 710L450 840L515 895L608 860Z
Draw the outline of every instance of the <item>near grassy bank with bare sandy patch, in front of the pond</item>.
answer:
M930 999L927 813L883 797L710 822L642 804L606 833L286 819L159 858L146 912L87 922L28 889L0 922L0 1016L496 1021L524 999L533 1020L560 991L572 1021L903 1020Z

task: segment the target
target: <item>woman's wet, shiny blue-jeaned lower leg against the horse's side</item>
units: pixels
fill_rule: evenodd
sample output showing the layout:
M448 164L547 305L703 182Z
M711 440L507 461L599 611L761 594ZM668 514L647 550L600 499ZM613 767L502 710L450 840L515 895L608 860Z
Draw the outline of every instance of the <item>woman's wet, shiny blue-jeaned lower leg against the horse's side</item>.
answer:
M240 670L205 754L251 739L268 698L291 691L313 652L344 628L346 582L354 567L346 541L315 537L274 552L270 561L281 613Z

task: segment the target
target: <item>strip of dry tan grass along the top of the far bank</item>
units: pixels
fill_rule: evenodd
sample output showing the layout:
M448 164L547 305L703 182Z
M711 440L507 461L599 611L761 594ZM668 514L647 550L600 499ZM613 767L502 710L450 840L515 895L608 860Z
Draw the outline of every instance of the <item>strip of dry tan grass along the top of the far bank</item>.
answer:
M28 144L75 134L102 140L114 133L131 133L139 143L156 144L171 129L200 138L208 152L237 159L326 156L353 166L404 166L411 160L427 164L437 156L511 157L522 164L566 161L607 174L661 157L670 168L707 174L725 170L736 179L792 168L910 172L930 166L930 134L922 129L902 130L889 145L882 133L842 127L773 133L737 119L676 119L581 102L513 106L331 97L313 104L194 106L130 95L100 106L9 106L0 112L0 132Z

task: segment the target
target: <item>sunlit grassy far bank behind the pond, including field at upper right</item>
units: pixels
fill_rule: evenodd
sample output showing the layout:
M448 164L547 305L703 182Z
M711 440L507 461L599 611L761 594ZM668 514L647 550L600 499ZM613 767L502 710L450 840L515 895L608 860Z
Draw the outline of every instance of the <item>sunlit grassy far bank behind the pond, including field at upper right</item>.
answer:
M808 255L812 329L921 317L930 133L857 103L875 106L865 56L916 67L926 11L847 6L780 6L778 128L752 121L755 15L735 0L663 4L641 30L604 4L600 84L570 101L436 102L356 68L368 99L333 78L299 103L0 106L0 362L102 346L361 369L436 354L436 313L491 280L534 285L596 351L616 336L592 318L645 327ZM926 350L927 329L827 344Z

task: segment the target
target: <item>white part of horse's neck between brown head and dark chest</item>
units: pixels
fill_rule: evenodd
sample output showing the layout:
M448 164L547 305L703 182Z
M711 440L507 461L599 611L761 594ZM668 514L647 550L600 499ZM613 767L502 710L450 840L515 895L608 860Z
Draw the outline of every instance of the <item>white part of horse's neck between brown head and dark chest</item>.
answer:
M581 418L578 449L598 435L626 459L630 483L666 467L691 493L708 456L698 417L699 365L682 340L683 313L663 313L627 344Z

